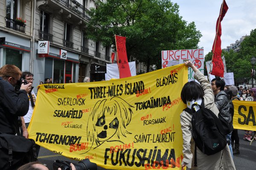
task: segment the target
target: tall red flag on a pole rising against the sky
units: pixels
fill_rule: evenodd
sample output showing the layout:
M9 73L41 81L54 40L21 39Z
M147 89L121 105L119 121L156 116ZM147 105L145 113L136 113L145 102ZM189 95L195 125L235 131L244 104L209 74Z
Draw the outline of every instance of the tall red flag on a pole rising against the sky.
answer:
M212 75L224 77L224 65L221 59L221 21L223 20L228 6L225 0L221 4L220 15L216 23L216 35L212 46Z

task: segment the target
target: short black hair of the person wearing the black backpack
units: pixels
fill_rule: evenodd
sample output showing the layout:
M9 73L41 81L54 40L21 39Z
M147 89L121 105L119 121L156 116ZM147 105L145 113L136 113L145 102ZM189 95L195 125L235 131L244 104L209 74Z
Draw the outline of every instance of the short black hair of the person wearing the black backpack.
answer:
M189 81L183 86L180 95L181 100L183 101L184 104L186 104L186 101L192 101L198 98L203 98L204 90L200 86L200 84L196 83L195 81Z

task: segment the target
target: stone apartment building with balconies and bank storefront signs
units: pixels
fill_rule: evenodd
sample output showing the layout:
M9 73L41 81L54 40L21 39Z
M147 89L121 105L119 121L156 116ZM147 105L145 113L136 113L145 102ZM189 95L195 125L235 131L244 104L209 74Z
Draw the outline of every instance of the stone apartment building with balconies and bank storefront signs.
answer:
M84 37L91 7L93 0L0 0L0 66L32 72L34 86L104 79L112 51ZM38 54L38 41L49 41L49 54Z

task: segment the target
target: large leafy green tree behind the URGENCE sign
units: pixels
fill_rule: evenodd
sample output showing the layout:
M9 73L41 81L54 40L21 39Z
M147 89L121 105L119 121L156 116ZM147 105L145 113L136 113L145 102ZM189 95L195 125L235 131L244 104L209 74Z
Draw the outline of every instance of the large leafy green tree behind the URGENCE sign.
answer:
M89 12L87 38L115 50L113 35L127 37L128 61L146 63L147 72L152 64L161 68L162 50L198 48L201 33L194 22L182 20L170 0L106 0L96 6Z

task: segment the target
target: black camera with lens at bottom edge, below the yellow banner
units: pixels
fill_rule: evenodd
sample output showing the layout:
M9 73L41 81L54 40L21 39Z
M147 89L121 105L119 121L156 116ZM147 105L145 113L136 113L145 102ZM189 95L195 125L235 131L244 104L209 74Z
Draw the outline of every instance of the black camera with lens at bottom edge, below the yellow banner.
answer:
M83 159L74 165L76 170L97 170L97 164L90 162L89 159ZM52 167L53 170L58 170L58 168L61 168L61 170L71 170L69 161L55 160L55 162L52 164Z

